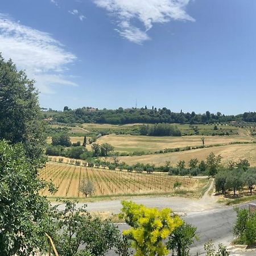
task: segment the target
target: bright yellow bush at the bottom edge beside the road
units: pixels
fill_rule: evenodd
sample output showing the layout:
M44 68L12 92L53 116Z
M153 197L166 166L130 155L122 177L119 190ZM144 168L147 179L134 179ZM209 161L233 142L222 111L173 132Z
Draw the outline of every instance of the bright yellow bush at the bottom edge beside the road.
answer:
M146 208L131 201L122 201L122 205L120 217L131 226L123 235L133 241L131 246L136 250L135 256L167 255L163 240L182 224L181 219L172 217L168 208Z

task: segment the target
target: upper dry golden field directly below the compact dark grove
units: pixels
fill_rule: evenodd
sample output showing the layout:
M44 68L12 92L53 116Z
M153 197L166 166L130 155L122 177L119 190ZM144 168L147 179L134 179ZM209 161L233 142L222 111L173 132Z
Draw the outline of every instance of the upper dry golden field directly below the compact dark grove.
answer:
M255 140L246 135L204 136L204 138L205 145L207 146L214 144L228 144L230 142L251 142ZM183 137L151 137L110 134L97 139L97 143L102 144L105 142L112 144L114 150L120 152L154 152L156 150L164 150L164 148L200 146L202 144L201 136L196 135Z

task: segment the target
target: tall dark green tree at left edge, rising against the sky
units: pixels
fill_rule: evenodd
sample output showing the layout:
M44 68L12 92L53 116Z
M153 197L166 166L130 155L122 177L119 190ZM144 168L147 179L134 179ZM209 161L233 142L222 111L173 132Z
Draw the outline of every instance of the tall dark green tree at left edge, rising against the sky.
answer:
M42 157L46 139L34 82L0 54L0 140L22 142L32 160Z

